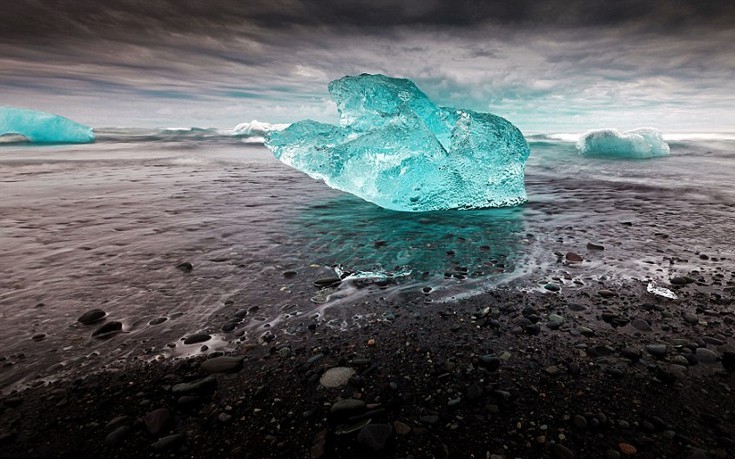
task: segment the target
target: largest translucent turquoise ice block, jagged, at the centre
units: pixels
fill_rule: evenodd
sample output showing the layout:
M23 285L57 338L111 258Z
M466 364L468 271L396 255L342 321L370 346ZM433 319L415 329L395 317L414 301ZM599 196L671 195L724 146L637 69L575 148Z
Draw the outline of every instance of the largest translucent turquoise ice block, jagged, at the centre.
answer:
M270 131L276 158L381 207L430 211L526 201L521 132L490 113L438 107L407 79L346 76L329 84L340 126L312 120Z

